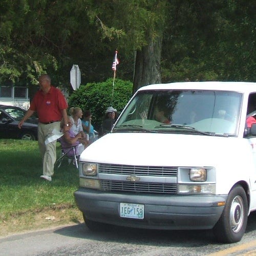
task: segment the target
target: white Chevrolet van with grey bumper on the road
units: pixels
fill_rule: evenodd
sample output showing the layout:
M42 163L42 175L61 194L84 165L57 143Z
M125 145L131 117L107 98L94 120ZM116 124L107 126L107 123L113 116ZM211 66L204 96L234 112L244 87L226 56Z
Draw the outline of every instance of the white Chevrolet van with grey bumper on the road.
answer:
M256 209L255 110L256 83L140 88L80 156L74 196L86 225L213 228L240 241Z

